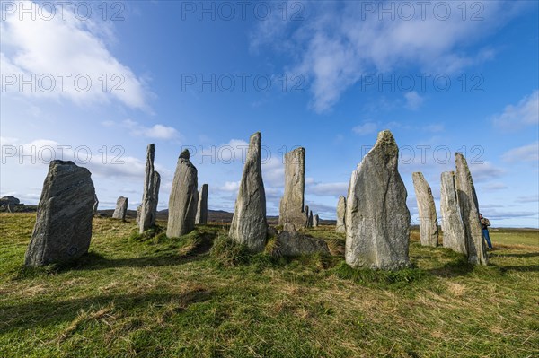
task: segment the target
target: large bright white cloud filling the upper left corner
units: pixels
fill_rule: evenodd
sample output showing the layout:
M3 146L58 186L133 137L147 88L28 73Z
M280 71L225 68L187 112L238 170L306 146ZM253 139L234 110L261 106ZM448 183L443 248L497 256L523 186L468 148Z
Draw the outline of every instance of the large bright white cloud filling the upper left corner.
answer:
M147 109L143 81L110 54L105 45L110 25L99 22L99 16L81 21L72 8L63 12L58 5L53 16L49 6L38 11L33 2L17 4L40 15L32 20L28 13L3 13L0 68L3 79L15 80L5 95L68 99L79 105L118 100L130 108ZM21 79L35 83L35 89L22 87Z

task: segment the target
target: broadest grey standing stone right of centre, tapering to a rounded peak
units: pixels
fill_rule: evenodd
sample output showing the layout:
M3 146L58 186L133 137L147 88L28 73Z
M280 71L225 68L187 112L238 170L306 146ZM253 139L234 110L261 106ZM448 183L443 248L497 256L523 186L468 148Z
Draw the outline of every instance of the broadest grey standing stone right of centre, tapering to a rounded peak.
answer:
M346 262L398 269L410 265L410 211L398 170L399 148L390 131L352 172L346 210Z

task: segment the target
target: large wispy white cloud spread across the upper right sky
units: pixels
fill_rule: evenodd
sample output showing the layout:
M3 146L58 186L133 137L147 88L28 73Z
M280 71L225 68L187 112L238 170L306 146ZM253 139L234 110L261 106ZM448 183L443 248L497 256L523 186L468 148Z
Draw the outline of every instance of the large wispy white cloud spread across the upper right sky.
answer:
M363 2L302 4L308 22L261 22L252 45L268 44L298 59L290 66L291 72L303 74L311 84L317 112L331 109L349 87L366 83L367 75L388 74L409 64L417 66L419 73L455 74L490 59L494 54L491 48L469 52L466 48L524 6L485 1L481 2L482 21L462 21L456 15L460 3L444 3L452 13L444 20L435 15L433 4L429 4L429 11L421 11L420 5L410 3L415 16L406 20L380 13L382 6L387 6L383 2L373 3L375 13L367 13ZM417 99L412 103L420 104Z

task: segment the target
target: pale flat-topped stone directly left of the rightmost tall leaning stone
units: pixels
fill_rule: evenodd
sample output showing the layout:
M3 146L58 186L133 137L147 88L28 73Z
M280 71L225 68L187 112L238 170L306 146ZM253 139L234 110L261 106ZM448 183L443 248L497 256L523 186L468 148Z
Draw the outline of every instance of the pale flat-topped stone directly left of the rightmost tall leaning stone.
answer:
M455 171L443 172L440 183L440 215L444 232L444 248L467 255L463 217L456 197Z

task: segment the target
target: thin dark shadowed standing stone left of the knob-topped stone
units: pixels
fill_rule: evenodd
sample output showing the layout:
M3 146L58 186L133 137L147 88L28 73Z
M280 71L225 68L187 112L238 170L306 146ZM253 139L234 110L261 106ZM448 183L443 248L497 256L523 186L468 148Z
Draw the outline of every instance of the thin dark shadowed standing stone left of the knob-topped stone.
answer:
M155 226L157 216L157 203L159 201L159 185L161 176L154 170L155 144L149 144L146 150L146 170L144 177L144 190L138 220L139 232L143 233Z

